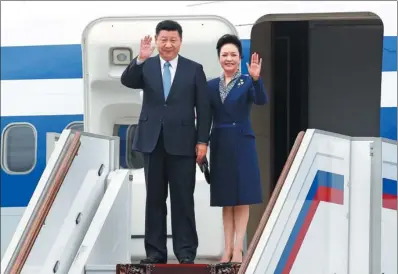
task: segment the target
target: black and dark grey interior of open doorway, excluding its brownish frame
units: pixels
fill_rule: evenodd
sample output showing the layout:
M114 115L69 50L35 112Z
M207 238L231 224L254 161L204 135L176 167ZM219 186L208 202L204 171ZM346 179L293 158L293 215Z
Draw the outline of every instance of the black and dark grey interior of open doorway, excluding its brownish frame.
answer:
M300 130L380 135L380 21L272 22L271 39L274 184Z

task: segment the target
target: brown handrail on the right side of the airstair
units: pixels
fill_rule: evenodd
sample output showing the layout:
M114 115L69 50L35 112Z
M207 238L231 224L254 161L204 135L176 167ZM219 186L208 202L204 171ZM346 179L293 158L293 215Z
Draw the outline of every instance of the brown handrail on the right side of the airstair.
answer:
M261 235L264 232L264 229L268 222L268 219L271 216L271 212L275 206L276 201L278 200L279 193L281 192L283 185L286 181L286 177L287 177L289 170L293 164L293 160L296 157L296 154L300 148L301 142L303 141L304 135L305 135L305 132L300 131L296 137L296 140L294 141L293 147L290 150L289 156L285 162L285 165L283 166L281 175L278 178L278 181L277 181L276 186L272 192L272 195L267 204L267 207L264 210L263 216L261 217L261 220L257 226L256 232L250 242L249 248L247 250L247 254L242 261L242 264L239 268L238 274L244 274L247 270L247 267L249 266L249 263L253 257L254 251L256 250L258 242L260 241Z

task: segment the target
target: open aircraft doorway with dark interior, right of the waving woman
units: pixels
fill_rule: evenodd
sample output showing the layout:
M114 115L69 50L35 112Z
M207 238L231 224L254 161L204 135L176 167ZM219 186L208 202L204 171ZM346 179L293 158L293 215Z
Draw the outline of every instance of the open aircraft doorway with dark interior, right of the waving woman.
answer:
M370 12L265 15L250 51L263 58L269 103L252 110L265 199L251 208L248 242L300 131L380 136L383 23Z

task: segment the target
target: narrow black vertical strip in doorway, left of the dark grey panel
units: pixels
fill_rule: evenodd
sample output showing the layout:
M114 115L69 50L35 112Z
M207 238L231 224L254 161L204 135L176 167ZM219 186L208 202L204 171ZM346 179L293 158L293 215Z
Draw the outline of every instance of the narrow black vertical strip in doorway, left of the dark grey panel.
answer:
M297 134L308 127L308 22L274 23L271 35L274 187Z

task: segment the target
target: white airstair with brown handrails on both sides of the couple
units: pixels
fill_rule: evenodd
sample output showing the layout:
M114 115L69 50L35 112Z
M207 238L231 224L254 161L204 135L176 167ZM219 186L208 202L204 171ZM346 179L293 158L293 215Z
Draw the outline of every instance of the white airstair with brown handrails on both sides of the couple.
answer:
M395 141L300 132L241 265L132 262L137 178L118 155L118 137L63 131L2 274L397 273Z

